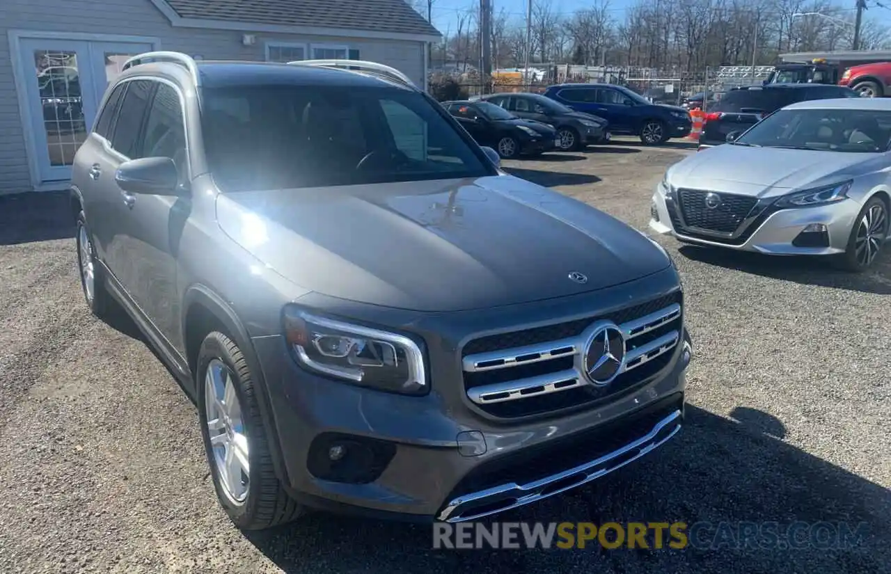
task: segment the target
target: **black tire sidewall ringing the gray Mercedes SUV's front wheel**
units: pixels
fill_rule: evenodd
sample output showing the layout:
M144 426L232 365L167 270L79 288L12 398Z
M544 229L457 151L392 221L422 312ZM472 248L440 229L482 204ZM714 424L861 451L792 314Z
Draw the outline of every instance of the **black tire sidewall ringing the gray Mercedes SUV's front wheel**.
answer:
M214 332L208 335L204 342L201 344L200 352L198 353L198 361L195 365L195 395L198 402L198 419L201 427L201 441L204 443L204 454L208 460L208 466L210 470L210 478L213 481L214 489L217 490L217 499L220 502L220 505L223 505L225 512L229 515L229 518L235 523L236 526L246 527L249 522L252 520L253 516L257 513L257 503L259 501L259 497L257 496L257 489L260 488L259 481L256 480L258 476L255 474L254 469L259 467L260 461L257 452L257 432L263 432L263 429L257 429L256 424L254 423L253 417L250 416L252 412L252 407L254 405L250 404L247 400L245 392L242 388L244 384L241 380L241 375L239 374L239 369L235 365L238 358L233 356L233 353L229 352L226 348L225 341L228 339L222 333ZM235 349L238 350L237 345L235 345ZM241 350L238 350L239 354ZM225 490L223 488L222 483L220 482L219 473L217 472L217 465L214 462L214 453L213 449L210 447L210 433L208 432L208 416L207 409L205 407L205 401L207 400L207 396L205 393L205 376L207 376L208 365L211 360L218 359L223 361L226 367L233 373L234 379L234 387L235 387L235 395L238 397L239 404L241 405L241 416L242 423L244 424L244 428L246 433L248 434L248 464L250 465L250 475L249 475L249 483L248 483L248 497L245 499L244 503L241 505L233 504L233 502L229 499L225 494Z

